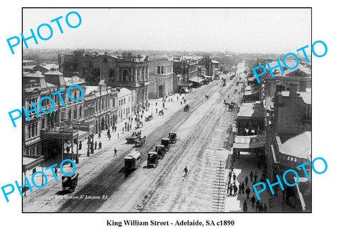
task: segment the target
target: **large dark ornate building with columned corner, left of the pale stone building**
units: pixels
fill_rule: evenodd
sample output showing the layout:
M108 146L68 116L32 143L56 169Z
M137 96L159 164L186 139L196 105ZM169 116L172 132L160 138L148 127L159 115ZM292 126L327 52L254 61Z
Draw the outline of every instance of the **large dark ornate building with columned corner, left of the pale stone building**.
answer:
M98 85L99 80L106 80L113 88L127 88L133 92L133 110L137 112L148 101L148 56L132 56L124 52L122 56L86 54L75 51L73 54L59 54L60 71L70 77L75 72L85 78L89 85Z

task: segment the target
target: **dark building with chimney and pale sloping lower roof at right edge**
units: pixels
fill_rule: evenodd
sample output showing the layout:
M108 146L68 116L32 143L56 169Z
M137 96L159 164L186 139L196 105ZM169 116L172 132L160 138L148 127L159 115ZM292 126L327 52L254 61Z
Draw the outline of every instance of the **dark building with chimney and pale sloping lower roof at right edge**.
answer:
M311 183L305 178L300 164L308 162L305 169L311 172L311 93L298 92L298 82L289 83L288 91L277 87L274 98L266 98L266 161L268 177L276 182L288 169L299 175L297 186L274 187L275 201L299 211L311 211ZM311 177L311 176L310 176ZM294 176L286 176L294 184Z

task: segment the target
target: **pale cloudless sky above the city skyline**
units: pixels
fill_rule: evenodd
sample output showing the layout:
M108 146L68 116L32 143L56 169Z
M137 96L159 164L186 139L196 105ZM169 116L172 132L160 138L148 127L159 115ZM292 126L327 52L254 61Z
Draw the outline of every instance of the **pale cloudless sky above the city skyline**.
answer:
M82 17L77 28L65 23L70 11ZM59 16L63 34L50 23ZM29 48L288 53L311 43L310 9L23 9L23 36L41 23L50 23L53 36L28 40Z

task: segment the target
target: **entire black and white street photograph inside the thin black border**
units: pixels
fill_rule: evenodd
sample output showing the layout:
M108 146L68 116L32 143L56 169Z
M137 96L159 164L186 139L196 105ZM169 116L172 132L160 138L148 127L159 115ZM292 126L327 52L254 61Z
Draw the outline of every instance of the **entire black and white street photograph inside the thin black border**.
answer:
M43 16L23 212L311 212L310 8L30 8L24 29Z

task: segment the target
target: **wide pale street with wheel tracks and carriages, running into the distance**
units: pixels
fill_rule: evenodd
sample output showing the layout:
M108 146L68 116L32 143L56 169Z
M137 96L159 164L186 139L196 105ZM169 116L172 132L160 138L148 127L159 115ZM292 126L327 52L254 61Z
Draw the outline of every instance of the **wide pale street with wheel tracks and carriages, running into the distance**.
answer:
M237 73L243 70L244 63L239 63ZM146 144L138 148L143 163L136 171L124 172L124 157L134 149L125 144L124 137L131 131L77 164L80 175L73 193L61 192L60 179L49 181L48 186L23 199L23 211L212 211L217 162L227 159L223 141L234 113L224 107L223 101L233 98L233 83L227 76L224 88L221 80L215 80L185 96L189 112L183 112L180 99L166 102L166 107L171 106L168 115L165 110L164 117L145 122L141 129ZM205 95L210 99L206 100ZM156 169L147 168L148 152L171 131L177 133L178 142L171 145ZM114 147L119 150L117 156ZM189 174L183 177L186 166Z

